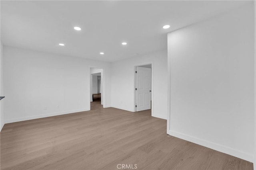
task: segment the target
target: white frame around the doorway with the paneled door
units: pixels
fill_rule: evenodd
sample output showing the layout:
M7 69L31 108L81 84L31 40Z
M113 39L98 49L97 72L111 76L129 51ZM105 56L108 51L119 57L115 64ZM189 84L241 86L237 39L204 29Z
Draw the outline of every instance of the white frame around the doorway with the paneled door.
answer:
M149 65L151 64L151 116L154 115L154 64L153 62L150 63L143 63L143 64L139 64L139 65L135 65L134 66L134 112L136 112L136 102L137 102L137 98L136 98L136 67L138 66L144 66L144 65Z

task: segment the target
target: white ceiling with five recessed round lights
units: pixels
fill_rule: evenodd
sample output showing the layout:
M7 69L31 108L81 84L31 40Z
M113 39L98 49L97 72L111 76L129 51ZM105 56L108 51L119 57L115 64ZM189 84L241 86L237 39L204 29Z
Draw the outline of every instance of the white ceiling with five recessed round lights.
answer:
M166 50L166 33L245 3L1 0L1 41L14 47L112 62ZM171 27L163 29L165 24ZM74 26L82 31L75 31ZM123 41L128 45L121 45ZM104 55L99 54L102 51Z

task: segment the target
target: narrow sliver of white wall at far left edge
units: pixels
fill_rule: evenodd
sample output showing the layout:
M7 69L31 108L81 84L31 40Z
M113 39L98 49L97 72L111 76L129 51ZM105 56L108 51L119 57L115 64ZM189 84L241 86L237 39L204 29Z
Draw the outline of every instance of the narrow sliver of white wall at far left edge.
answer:
M4 96L3 86L3 45L0 47L0 96ZM4 126L4 99L0 100L0 131Z

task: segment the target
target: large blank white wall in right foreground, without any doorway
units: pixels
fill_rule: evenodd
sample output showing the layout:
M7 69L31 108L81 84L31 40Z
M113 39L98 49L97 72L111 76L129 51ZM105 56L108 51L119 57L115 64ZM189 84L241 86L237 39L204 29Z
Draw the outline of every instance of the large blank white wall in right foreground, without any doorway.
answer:
M254 29L250 4L168 34L168 134L253 162Z

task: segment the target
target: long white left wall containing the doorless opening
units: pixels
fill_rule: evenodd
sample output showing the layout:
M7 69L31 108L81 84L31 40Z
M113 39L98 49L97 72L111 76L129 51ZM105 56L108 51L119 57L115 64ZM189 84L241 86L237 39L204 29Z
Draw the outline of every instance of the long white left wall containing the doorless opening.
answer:
M109 63L4 46L5 123L89 110L92 65L110 91Z

